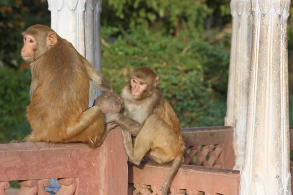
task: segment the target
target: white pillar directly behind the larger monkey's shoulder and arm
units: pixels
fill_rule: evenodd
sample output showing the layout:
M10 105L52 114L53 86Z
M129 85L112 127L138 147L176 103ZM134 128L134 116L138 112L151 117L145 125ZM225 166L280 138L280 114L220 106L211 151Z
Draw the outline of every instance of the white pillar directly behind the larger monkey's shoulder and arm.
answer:
M48 0L51 28L101 71L100 13L102 0ZM98 96L91 83L89 106Z

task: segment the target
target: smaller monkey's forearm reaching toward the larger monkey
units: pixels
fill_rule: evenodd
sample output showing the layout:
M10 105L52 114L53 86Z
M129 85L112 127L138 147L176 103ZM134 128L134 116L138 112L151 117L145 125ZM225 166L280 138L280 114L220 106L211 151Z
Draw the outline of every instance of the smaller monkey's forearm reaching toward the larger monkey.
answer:
M142 128L139 122L120 113L105 114L105 124L111 122L119 124L124 131L129 132L132 136L137 136Z

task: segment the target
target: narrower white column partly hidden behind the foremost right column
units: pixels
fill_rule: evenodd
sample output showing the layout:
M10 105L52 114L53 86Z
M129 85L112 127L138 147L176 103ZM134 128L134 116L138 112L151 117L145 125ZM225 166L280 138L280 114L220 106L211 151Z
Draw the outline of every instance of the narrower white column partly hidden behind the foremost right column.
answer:
M248 80L251 63L251 0L231 0L232 37L225 125L234 127L234 169L243 164Z

